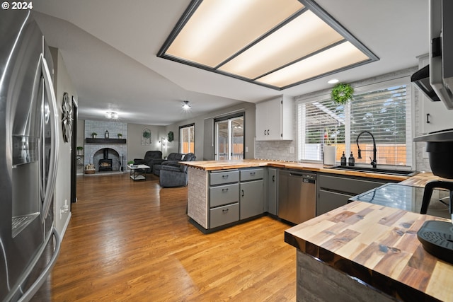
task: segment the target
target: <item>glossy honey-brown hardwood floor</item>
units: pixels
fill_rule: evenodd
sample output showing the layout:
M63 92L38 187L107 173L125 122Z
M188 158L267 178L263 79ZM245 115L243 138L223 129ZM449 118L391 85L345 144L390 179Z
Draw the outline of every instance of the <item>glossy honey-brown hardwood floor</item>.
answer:
M52 301L295 301L289 226L268 216L204 235L187 188L159 179L79 176L52 271Z

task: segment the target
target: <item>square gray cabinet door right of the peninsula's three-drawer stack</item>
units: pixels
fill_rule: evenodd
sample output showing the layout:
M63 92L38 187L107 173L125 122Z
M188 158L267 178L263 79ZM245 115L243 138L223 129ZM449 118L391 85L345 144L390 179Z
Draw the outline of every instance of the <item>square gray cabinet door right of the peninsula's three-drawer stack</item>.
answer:
M241 182L239 194L239 217L246 219L248 217L263 214L264 212L264 194L263 180L254 180L251 182Z

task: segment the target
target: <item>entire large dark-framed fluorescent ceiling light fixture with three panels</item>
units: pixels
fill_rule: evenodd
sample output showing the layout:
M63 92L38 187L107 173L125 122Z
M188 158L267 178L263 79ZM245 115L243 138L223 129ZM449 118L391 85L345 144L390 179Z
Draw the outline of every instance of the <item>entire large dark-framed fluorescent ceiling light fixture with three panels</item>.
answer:
M379 59L313 0L193 0L157 55L277 90Z

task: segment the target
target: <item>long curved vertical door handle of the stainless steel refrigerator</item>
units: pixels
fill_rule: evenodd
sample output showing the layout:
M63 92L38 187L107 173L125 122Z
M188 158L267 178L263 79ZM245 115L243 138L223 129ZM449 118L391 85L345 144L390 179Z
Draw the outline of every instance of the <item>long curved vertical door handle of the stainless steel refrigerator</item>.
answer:
M40 55L41 67L42 67L42 74L44 74L45 78L45 90L47 95L50 96L50 115L51 115L51 122L52 127L50 127L50 163L49 163L49 181L45 187L45 197L44 202L42 203L42 216L41 220L45 221L47 214L49 213L50 204L52 202L53 191L55 189L55 182L57 181L57 164L58 164L58 144L57 144L57 137L58 137L58 111L57 111L57 98L55 98L54 87L52 85L52 78L50 77L49 67L47 66L47 62L45 60L44 54L41 53Z

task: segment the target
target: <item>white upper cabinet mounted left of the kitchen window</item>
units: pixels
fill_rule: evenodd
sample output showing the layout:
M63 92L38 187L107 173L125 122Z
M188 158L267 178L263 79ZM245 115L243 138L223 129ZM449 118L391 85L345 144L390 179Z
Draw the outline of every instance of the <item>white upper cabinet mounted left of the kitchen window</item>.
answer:
M294 101L285 95L256 104L256 140L292 140L293 108Z

